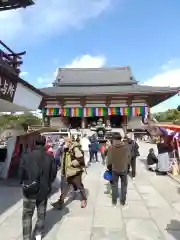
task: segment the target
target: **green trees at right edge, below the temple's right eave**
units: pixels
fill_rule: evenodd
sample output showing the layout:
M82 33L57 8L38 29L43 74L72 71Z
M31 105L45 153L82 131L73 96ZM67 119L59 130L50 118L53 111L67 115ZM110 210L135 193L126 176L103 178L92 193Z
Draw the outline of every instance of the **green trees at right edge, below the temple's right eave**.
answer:
M177 109L169 109L165 112L152 114L158 122L171 122L174 124L180 123L180 111Z

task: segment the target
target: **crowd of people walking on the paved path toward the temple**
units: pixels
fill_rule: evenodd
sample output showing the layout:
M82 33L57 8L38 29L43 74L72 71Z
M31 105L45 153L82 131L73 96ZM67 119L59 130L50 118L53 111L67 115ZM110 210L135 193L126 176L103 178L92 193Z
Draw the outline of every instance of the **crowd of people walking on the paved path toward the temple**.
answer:
M118 181L121 179L120 202L126 203L128 173L134 180L136 176L136 157L139 156L136 141L114 134L111 140L100 144L96 135L88 138L61 139L59 148L53 153L46 139L41 137L36 141L32 152L25 153L20 165L20 183L23 190L23 240L32 239L32 217L37 208L37 223L33 231L36 240L43 236L44 222L48 197L51 194L52 183L59 169L61 175L60 196L52 206L61 210L65 197L72 188L79 190L81 208L87 206L87 196L82 181L82 175L93 161L107 166L112 178L109 180L112 188L112 204L117 204ZM99 154L100 153L100 154Z

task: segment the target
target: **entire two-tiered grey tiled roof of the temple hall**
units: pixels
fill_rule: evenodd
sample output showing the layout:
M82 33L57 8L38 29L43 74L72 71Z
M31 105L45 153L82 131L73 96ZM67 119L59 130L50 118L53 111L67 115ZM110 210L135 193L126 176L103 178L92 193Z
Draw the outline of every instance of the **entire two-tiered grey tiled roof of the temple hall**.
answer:
M60 68L52 87L42 88L49 97L86 97L97 95L145 95L151 106L178 93L179 88L140 85L130 67L70 69ZM154 97L155 95L155 97ZM161 99L158 97L161 95ZM163 96L163 97L162 97Z

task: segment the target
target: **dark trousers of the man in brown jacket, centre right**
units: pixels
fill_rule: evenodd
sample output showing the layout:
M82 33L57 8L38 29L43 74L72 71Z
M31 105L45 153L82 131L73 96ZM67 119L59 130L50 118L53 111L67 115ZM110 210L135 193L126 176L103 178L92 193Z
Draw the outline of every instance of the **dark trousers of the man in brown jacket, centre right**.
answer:
M127 194L127 185L128 185L128 178L127 172L112 172L112 202L117 203L118 198L118 181L119 178L121 179L121 202L126 201L126 194Z

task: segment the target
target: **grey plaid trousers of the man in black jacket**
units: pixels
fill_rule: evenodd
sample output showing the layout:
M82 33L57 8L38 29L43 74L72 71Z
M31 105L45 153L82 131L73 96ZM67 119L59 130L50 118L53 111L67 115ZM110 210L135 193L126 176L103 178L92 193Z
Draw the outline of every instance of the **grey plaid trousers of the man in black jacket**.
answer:
M35 199L23 199L23 240L32 239L32 218L34 210L37 208L37 222L34 229L35 235L41 235L44 230L46 217L47 200L38 202Z

